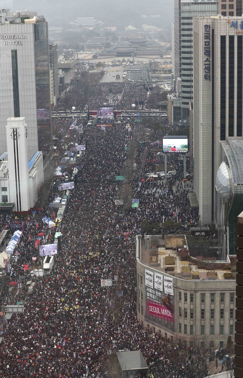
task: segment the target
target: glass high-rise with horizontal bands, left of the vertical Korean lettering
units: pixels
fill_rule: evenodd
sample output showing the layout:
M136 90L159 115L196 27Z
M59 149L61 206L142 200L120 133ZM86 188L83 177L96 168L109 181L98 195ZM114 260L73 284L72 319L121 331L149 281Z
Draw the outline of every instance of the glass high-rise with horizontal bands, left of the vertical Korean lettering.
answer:
M192 18L217 15L218 2L174 0L174 77L181 118L189 125L189 103L193 102ZM181 85L178 83L181 81Z

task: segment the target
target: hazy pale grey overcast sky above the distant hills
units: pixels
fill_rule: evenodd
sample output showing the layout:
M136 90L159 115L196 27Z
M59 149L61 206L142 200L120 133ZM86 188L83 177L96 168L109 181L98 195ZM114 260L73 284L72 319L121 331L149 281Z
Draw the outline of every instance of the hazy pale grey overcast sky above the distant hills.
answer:
M12 7L11 7L12 1ZM77 17L94 17L105 26L134 25L142 23L170 29L174 20L173 0L7 0L11 10L35 10L44 15L51 26L68 25ZM142 18L142 15L160 15L158 19Z

